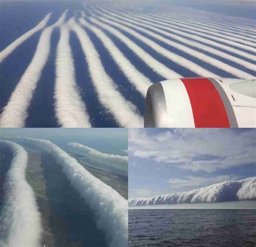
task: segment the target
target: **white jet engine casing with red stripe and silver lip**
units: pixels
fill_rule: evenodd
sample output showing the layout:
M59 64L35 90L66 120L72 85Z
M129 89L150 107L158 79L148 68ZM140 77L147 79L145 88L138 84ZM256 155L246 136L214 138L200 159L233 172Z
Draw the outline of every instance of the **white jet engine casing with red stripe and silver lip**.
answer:
M184 78L147 90L145 127L256 127L256 80Z

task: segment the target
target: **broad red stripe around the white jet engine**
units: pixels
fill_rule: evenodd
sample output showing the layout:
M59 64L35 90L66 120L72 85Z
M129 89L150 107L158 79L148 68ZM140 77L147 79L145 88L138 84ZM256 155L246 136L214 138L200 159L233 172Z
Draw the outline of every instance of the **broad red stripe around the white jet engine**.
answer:
M183 81L190 98L195 127L230 127L223 101L210 80L188 78L181 79L181 81Z

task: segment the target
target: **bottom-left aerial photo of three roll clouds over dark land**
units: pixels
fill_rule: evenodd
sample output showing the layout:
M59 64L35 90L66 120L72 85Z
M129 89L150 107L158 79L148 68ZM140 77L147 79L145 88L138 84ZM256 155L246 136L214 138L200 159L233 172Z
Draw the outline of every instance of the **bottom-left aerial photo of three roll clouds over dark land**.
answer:
M127 129L1 129L0 246L127 246Z

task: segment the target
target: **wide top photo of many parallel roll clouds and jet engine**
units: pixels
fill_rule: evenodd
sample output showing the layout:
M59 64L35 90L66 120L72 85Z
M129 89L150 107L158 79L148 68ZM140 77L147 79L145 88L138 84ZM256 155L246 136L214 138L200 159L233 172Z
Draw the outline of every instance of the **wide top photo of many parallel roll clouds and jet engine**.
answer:
M0 11L0 127L256 126L254 1L1 0Z

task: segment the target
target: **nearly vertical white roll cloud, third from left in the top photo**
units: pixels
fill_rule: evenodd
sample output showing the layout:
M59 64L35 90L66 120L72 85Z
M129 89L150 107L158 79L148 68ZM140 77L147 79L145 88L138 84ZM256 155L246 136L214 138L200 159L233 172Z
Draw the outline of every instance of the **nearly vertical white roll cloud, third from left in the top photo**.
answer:
M75 65L69 44L68 25L60 27L56 52L55 112L58 124L65 128L91 127L86 106L76 84Z

